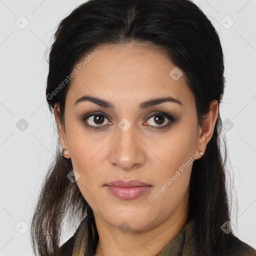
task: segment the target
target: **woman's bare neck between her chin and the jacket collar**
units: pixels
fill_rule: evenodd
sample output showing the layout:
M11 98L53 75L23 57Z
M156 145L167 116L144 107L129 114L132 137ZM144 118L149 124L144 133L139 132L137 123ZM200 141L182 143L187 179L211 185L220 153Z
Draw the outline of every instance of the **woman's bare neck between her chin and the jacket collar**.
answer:
M173 214L167 219L147 230L121 230L107 223L95 214L99 240L96 246L96 256L134 254L140 256L156 255L172 240L187 222L186 209L188 198L184 196Z

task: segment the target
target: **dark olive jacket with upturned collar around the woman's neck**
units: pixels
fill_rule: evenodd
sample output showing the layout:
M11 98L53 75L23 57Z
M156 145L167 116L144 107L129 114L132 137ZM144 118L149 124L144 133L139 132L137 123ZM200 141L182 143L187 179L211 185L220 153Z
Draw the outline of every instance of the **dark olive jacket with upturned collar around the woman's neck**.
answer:
M79 228L79 227L78 227ZM77 228L77 230L78 230ZM61 247L61 256L72 256L77 231ZM229 235L228 251L223 256L256 256L256 250L234 235ZM177 235L168 242L155 256L197 256L198 242L195 238L195 221L188 221ZM96 255L86 249L85 256ZM134 253L136 255L136 253ZM73 255L77 256L77 255ZM212 255L222 256L222 255Z

